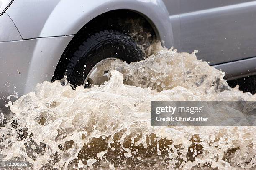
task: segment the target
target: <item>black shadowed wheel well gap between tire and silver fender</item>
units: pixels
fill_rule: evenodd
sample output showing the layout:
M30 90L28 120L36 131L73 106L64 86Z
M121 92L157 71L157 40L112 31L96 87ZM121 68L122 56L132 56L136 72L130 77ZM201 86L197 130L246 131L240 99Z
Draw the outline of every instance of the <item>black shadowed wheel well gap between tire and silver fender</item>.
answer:
M70 58L68 57L69 53L72 53L72 47L79 45L81 43L80 37L88 37L91 32L93 31L101 31L102 28L109 28L114 30L120 30L123 31L123 27L118 27L118 22L116 21L107 21L108 19L111 20L113 17L118 16L122 18L124 21L128 18L139 18L143 19L143 27L148 28L150 27L148 32L151 33L151 35L155 36L158 40L162 40L161 30L155 25L154 21L151 20L151 18L148 18L147 15L138 12L136 10L130 10L130 9L118 9L118 10L110 10L108 12L102 13L100 15L97 15L95 18L87 22L85 25L80 28L80 30L77 31L76 35L73 37L73 39L69 42L69 45L67 46L66 50L63 52L63 55L59 59L59 62L56 66L56 70L54 72L54 76L52 78L52 82L54 80L59 80L64 77L65 74L65 67L67 63L69 62ZM126 17L127 16L127 17ZM126 18L125 18L126 17ZM113 23L111 23L113 22ZM132 28L133 29L133 28ZM162 32L161 32L162 33ZM168 47L168 43L167 43Z

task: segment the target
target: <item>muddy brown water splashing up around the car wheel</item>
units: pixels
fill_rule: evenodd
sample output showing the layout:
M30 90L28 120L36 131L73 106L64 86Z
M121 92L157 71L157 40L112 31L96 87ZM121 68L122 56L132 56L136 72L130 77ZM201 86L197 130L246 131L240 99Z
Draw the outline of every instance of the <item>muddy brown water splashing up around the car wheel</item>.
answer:
M28 169L254 170L253 126L150 125L151 100L256 100L195 52L156 50L113 62L105 85L44 82L9 102L15 115L1 127L0 158L29 161Z

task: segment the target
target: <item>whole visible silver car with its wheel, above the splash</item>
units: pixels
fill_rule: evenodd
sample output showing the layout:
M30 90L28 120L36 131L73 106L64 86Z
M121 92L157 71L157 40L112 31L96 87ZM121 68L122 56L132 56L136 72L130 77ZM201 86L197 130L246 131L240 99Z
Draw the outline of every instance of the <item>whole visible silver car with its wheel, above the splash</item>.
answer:
M0 0L0 97L36 83L100 84L115 58L134 62L155 39L226 72L256 72L254 0ZM4 102L1 102L4 103Z

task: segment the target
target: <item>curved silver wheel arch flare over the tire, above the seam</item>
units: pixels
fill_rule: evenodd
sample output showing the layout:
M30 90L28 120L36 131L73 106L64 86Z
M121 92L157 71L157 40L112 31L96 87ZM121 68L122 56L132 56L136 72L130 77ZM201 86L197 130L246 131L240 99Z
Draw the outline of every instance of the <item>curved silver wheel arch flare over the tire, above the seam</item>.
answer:
M76 34L97 16L113 10L130 10L140 14L154 25L155 32L159 33L158 37L166 47L172 45L169 13L162 0L97 0L90 3L85 0L76 0L75 3L60 0L46 20L40 37Z

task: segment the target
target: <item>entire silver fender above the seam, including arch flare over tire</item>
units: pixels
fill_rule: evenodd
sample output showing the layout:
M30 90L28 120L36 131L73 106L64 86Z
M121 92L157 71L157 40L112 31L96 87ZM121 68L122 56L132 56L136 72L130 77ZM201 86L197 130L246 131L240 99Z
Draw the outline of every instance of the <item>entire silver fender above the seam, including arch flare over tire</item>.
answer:
M166 47L173 45L169 13L161 0L19 0L6 12L23 39L31 39L73 35L98 15L117 9L133 10L150 18Z

